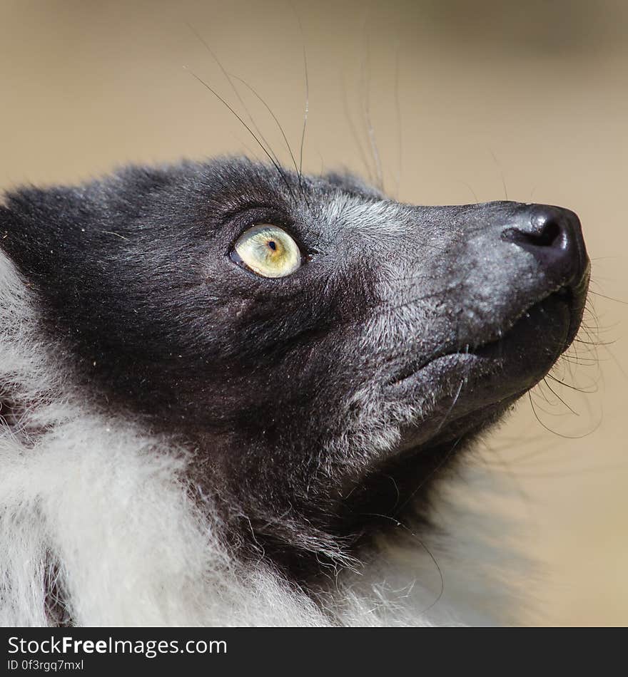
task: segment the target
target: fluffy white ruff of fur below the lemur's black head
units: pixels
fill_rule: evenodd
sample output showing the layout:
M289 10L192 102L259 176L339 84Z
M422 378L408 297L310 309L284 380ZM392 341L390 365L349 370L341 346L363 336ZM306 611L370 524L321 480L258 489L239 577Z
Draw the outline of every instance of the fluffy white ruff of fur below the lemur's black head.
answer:
M0 254L0 625L415 625L510 620L469 510L438 506L447 539L382 544L315 604L269 564L223 546L188 455L103 413L41 338L30 291ZM202 502L201 502L202 505ZM440 574L444 592L440 591ZM482 561L482 563L480 562ZM46 594L48 590L48 594ZM56 603L55 596L59 596ZM430 605L431 608L430 608Z

